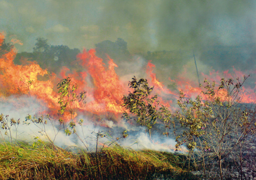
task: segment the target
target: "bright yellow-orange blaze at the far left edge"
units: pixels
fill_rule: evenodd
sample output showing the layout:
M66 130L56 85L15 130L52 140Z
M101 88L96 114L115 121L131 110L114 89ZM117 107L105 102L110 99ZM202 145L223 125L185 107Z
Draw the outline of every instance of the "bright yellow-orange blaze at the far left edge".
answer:
M36 96L44 100L50 109L54 109L58 105L58 94L53 91L54 84L51 80L44 82L37 79L38 75L47 75L47 70L33 62L29 65L15 65L15 55L16 50L12 49L0 58L1 93L6 96Z

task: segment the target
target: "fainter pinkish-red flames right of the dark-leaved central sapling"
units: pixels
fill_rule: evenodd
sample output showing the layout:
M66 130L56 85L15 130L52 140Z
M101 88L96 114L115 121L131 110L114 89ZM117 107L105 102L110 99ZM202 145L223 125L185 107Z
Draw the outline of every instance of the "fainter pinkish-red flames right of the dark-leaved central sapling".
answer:
M167 89L165 86L163 86L163 84L161 82L158 81L156 74L153 73L155 68L155 65L152 64L151 62L148 63L147 65L147 74L150 77L150 82L151 85L154 86L154 89L157 90L157 93L161 94L162 96L166 96L166 94L171 95L173 98L177 98L179 97L179 93L177 92L173 92L169 89ZM177 90L182 90L184 92L184 94L186 94L186 97L191 98L191 97L197 97L197 95L201 95L203 100L206 100L207 97L201 93L202 89L201 87L199 87L199 85L197 84L196 81L194 80L190 80L188 78L184 78L186 74L186 68L184 68L184 71L178 76L178 78L176 80L172 80L171 78L169 78L170 82L175 83L177 85ZM255 74L254 72L249 72L249 74ZM201 74L201 76L205 77L206 79L208 79L209 82L216 82L216 87L219 85L218 83L220 82L220 80L222 78L225 79L233 79L236 80L237 78L241 78L239 79L240 82L243 81L243 77L247 75L244 74L244 72L241 72L237 69L235 69L233 67L233 71L223 71L223 72L219 72L219 71L215 71L212 70L209 72L209 75L206 74ZM217 88L218 89L218 88ZM221 98L221 101L227 101L227 91L226 90L218 90L217 92L216 89L216 94L215 97L219 97ZM240 100L241 103L255 103L256 101L256 95L255 95L255 91L256 91L256 86L255 87L241 87L240 89ZM166 99L166 98L165 98ZM173 105L172 102L173 101L163 101L162 98L160 97L160 102L164 105Z

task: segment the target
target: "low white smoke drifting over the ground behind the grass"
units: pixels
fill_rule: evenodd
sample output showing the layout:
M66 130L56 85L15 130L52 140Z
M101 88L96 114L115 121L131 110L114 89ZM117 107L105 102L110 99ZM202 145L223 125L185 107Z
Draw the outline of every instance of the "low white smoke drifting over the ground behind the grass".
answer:
M22 105L21 105L22 104ZM111 142L130 147L133 149L152 149L173 152L175 147L175 141L173 139L165 139L162 141L162 137L154 135L152 139L155 139L153 143L145 133L138 133L145 131L145 128L141 126L133 126L123 120L119 121L118 124L113 123L112 120L102 119L100 122L92 122L87 116L79 116L77 119L83 119L82 126L76 124L76 134L67 136L64 132L63 126L59 124L58 120L50 118L47 120L47 124L43 123L32 123L30 120L26 120L27 115L33 116L36 114L37 117L41 116L40 112L47 111L47 106L43 106L41 100L35 97L27 97L26 95L14 97L8 97L8 100L1 99L0 109L4 112L4 116L9 115L8 119L20 120L20 124L13 125L11 127L11 133L13 141L17 138L18 141L27 141L30 144L36 142L35 138L41 139L42 141L49 142L49 139L54 142L55 145L67 148L69 146L77 146L78 148L85 148L84 144L90 151L95 150L97 133L102 132L102 137L99 136L99 145L109 145ZM44 122L43 120L43 122ZM10 125L10 122L9 122ZM65 124L67 127L67 124ZM120 139L116 141L116 138L122 137L122 131L128 131L128 138ZM6 141L10 141L9 131L8 135L4 135L5 130L1 129L1 134ZM104 137L104 135L106 135ZM83 141L83 142L82 142ZM161 141L161 142L160 142Z

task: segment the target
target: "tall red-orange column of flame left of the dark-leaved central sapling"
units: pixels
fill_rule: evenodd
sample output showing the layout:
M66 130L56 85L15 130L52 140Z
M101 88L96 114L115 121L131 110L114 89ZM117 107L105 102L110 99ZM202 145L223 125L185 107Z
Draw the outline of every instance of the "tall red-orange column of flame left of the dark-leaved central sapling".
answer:
M109 58L108 69L104 67L102 59L95 56L95 50L86 50L78 54L80 64L88 69L88 73L93 78L94 89L91 91L94 101L87 104L87 111L93 113L111 112L114 114L122 113L122 98L125 93L125 87L116 75L115 67L118 67L113 60Z

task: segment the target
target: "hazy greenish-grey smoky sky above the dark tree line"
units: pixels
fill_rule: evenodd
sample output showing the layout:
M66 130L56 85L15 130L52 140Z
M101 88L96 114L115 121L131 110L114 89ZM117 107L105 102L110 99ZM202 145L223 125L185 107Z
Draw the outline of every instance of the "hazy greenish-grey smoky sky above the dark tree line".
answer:
M131 52L256 42L254 0L0 0L0 31L32 51L35 39L94 48L123 38Z

